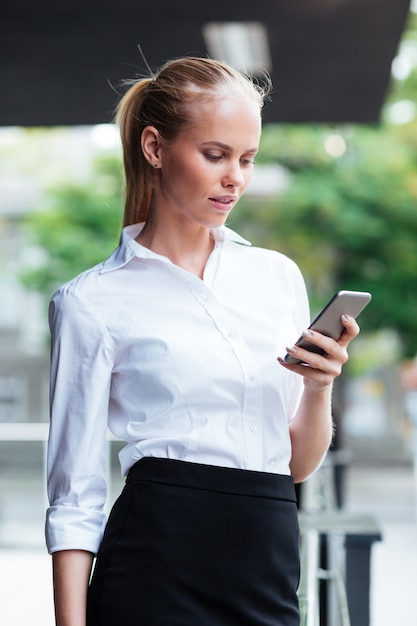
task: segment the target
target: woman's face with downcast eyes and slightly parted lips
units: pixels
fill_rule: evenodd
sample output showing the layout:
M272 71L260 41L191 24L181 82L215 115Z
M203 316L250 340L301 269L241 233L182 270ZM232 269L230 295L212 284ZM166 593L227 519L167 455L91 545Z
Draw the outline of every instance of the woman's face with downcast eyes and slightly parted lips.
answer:
M200 102L194 111L195 122L173 143L160 146L154 210L183 224L215 228L225 222L252 176L260 111L246 95Z

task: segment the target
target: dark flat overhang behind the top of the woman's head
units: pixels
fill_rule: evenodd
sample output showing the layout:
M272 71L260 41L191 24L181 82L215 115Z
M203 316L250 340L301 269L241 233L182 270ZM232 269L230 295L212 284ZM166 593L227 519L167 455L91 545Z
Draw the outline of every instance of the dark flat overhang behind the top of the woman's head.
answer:
M0 125L109 122L112 86L182 55L206 55L210 22L266 28L274 122L376 122L409 0L5 0Z

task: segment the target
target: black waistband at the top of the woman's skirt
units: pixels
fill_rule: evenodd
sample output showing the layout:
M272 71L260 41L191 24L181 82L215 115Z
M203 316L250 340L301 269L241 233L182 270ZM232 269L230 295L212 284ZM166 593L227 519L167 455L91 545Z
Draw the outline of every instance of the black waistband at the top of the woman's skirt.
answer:
M176 459L143 457L127 475L127 483L135 481L296 502L291 476Z

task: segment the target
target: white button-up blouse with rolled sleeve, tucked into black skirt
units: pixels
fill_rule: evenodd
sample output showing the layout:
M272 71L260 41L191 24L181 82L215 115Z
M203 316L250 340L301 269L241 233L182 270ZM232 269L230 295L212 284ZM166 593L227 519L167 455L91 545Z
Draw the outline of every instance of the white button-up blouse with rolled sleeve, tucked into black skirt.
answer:
M51 301L50 552L98 550L107 428L124 475L143 456L289 474L303 384L277 357L309 324L299 269L222 227L201 280L141 227Z

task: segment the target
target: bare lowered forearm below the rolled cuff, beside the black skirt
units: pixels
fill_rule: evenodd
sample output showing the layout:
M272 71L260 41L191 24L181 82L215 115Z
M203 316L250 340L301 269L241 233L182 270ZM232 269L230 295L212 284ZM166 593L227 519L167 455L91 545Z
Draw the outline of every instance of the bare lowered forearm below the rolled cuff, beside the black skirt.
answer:
M86 626L87 589L93 554L60 550L52 555L56 626Z

